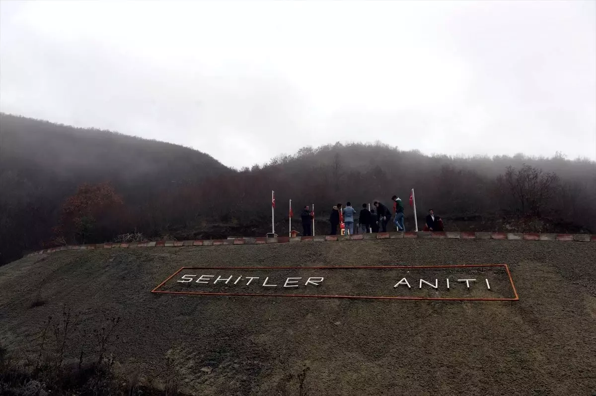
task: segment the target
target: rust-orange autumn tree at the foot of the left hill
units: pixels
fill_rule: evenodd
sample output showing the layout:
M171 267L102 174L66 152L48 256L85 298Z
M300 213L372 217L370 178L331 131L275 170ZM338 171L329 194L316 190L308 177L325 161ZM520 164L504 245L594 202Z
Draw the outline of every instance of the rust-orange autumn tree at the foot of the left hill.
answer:
M63 243L107 240L123 226L123 206L110 183L82 184L64 202L54 233Z

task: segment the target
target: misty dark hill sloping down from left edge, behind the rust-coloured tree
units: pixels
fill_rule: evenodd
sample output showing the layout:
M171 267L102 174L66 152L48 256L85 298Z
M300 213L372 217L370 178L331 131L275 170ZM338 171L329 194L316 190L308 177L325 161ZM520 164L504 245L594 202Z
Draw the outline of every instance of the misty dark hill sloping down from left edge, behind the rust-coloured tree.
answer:
M50 240L80 184L108 181L138 207L174 184L232 172L188 147L0 114L0 263Z

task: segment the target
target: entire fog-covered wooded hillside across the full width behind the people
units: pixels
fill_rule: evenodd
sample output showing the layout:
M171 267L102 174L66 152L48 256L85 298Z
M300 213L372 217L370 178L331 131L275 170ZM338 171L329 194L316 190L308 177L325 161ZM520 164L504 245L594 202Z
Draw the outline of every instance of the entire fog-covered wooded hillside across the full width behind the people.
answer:
M0 116L0 135L0 263L41 246L135 231L264 235L271 190L278 232L287 232L290 198L296 216L315 203L320 233L335 203L389 205L393 194L405 202L412 230L412 187L419 224L433 208L447 230L596 232L596 164L559 153L453 158L338 143L235 171L187 147L12 115Z

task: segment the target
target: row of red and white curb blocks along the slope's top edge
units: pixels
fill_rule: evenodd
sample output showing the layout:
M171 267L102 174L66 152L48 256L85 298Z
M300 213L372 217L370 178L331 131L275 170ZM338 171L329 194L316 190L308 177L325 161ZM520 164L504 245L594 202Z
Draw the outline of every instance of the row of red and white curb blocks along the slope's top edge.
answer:
M26 254L24 257L37 256L62 252L63 250L95 250L95 249L136 249L139 247L181 247L181 246L218 246L218 245L244 245L264 243L288 243L288 242L324 242L324 241L361 241L378 239L402 239L402 238L455 238L455 239L497 239L497 240L525 240L525 241L577 241L596 242L596 235L591 234L537 234L535 232L472 232L472 231L446 231L446 232L378 232L377 234L356 234L356 235L316 235L315 237L277 237L277 238L233 238L233 239L205 239L185 241L151 241L132 243L96 243L85 245L67 245L50 247Z

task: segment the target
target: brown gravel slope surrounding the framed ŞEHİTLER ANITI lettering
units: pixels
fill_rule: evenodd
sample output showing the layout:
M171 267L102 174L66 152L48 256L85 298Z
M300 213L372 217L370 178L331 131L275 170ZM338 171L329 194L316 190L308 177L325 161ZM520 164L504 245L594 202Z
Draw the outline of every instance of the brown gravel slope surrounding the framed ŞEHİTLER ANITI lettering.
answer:
M587 395L596 392L596 244L375 240L68 251L0 268L0 341L24 353L79 313L70 356L119 316L123 372L197 395ZM149 293L181 266L508 263L520 301L383 301ZM45 304L31 308L36 294ZM291 376L291 378L290 378Z

